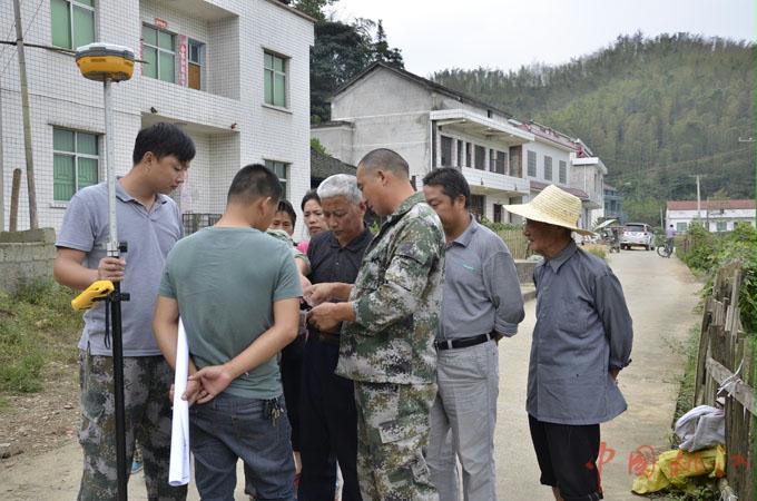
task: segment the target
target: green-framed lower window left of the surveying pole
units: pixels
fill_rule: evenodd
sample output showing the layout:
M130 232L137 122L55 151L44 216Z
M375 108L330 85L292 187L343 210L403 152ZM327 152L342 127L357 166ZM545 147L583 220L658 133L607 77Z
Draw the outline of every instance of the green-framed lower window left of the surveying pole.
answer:
M99 178L97 135L52 129L52 199L68 202Z

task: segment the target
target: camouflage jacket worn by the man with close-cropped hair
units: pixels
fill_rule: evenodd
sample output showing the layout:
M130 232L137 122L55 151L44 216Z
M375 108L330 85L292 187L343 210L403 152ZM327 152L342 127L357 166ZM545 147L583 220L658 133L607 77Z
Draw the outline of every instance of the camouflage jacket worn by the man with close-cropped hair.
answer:
M434 382L443 273L442 223L416 193L365 250L350 296L356 320L342 326L336 373L373 383Z

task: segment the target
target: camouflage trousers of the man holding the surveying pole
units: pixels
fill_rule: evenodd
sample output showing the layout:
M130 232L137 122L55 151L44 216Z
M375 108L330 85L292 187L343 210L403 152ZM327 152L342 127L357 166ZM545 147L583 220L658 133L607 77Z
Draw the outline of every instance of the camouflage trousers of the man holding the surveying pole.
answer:
M142 449L145 483L150 501L185 500L187 487L168 485L171 411L168 390L174 382L163 356L124 357L126 407L126 474L131 471L135 439ZM117 498L116 404L110 356L79 351L79 391L83 450L80 501Z

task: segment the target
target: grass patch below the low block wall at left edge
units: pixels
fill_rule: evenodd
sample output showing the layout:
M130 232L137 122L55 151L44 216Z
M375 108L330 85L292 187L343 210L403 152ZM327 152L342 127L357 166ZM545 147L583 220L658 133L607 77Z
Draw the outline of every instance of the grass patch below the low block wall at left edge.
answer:
M83 322L71 310L73 296L50 278L22 285L12 295L0 291L0 397L38 392L49 362L76 360Z

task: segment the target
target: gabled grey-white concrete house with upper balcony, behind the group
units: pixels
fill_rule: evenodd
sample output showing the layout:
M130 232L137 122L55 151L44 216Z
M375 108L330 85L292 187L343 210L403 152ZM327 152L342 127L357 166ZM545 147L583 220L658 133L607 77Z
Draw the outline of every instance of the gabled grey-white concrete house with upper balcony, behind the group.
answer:
M333 121L314 126L330 155L356 165L375 148L410 164L416 188L435 167L459 167L471 185L471 209L508 222L502 209L530 195L523 145L531 132L510 115L402 69L376 62L336 90Z

